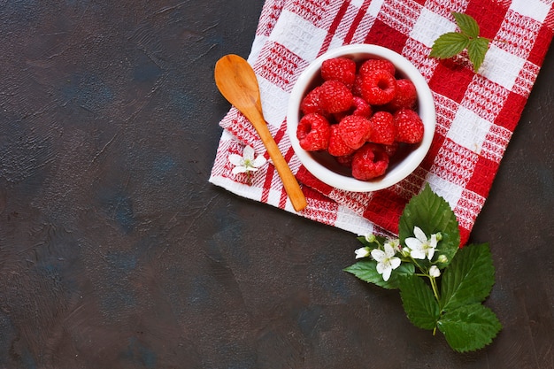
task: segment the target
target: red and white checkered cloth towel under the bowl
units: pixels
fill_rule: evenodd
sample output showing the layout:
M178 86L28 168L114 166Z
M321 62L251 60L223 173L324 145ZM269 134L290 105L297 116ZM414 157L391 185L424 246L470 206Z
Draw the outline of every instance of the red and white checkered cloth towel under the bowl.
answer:
M409 199L425 183L456 213L466 243L552 39L554 0L266 0L248 61L258 75L265 119L303 186L298 215L355 234L396 234ZM435 39L457 29L451 12L473 16L492 39L478 73L466 56L428 58ZM286 133L290 91L306 65L327 50L373 43L404 55L426 78L437 109L435 139L419 168L394 187L372 193L330 188L300 165ZM231 173L230 153L265 149L253 127L231 108L210 181L295 212L273 165Z

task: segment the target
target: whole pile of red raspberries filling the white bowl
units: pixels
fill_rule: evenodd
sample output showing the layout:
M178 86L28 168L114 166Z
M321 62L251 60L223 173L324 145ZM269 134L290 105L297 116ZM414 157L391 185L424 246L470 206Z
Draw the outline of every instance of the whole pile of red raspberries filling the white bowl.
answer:
M423 139L416 88L389 60L330 58L320 77L300 104L296 137L304 150L327 151L352 177L370 181L386 173L399 145Z

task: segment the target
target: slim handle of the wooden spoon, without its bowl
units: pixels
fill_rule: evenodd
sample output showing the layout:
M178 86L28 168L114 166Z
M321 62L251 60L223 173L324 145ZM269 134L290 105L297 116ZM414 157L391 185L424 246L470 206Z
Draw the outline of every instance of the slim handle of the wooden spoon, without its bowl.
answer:
M249 109L248 111L242 111L242 113L250 120L252 126L256 128L260 139L264 142L265 150L267 150L269 158L272 159L273 165L281 177L283 187L287 191L287 195L289 195L290 203L296 211L303 210L307 205L304 192L302 192L302 188L300 188L298 181L296 181L295 175L290 170L289 164L281 155L277 143L273 140L273 136L265 123L264 116L256 109Z

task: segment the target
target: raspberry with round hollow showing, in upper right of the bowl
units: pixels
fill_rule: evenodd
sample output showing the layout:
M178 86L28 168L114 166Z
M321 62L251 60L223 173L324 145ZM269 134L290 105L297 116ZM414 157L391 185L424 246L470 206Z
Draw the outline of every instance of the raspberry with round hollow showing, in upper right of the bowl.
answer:
M372 105L389 103L398 89L395 77L382 69L363 74L360 83L362 97Z

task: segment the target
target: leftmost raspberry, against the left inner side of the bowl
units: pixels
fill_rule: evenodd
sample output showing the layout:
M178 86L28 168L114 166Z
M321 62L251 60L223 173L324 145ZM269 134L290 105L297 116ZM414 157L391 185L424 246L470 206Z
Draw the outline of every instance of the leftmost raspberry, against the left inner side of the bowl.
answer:
M330 135L328 120L318 113L304 115L298 122L296 137L306 151L327 150Z

